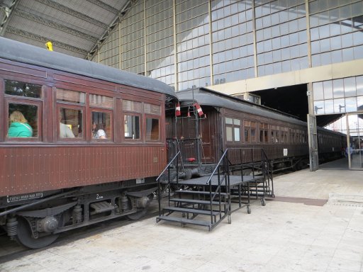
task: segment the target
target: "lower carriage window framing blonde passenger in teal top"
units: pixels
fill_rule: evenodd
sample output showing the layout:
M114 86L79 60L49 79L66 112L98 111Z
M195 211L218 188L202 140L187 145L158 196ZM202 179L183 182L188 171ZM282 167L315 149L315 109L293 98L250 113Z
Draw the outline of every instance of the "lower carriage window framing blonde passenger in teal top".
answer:
M8 137L38 137L38 106L9 103Z

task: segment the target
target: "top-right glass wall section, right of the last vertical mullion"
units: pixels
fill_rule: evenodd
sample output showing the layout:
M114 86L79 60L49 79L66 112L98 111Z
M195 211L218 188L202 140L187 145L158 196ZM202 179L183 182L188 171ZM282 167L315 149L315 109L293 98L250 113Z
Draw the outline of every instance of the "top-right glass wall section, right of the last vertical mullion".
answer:
M362 59L363 1L309 1L309 11L313 66Z

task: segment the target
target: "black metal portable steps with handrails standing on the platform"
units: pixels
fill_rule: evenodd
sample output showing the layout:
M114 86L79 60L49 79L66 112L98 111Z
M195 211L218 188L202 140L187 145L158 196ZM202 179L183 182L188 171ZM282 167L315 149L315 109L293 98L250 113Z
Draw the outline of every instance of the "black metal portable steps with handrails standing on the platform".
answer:
M222 220L228 218L228 223L231 223L231 214L240 208L246 207L247 212L251 212L250 195L257 192L257 195L262 190L263 196L267 196L270 189L267 188L272 184L271 179L267 179L269 174L266 173L268 162L263 160L252 168L252 175L245 176L243 171L247 167L242 162L242 156L239 164L230 164L228 153L235 152L237 149L226 149L223 156L216 165L212 174L196 179L179 180L169 179L167 183L161 184L159 188L164 187L159 191L159 196L163 192L170 191L174 186L174 196L169 193L167 205L161 207L159 197L159 216L157 222L161 220L169 222L179 222L182 226L200 225L208 227L209 230L216 227ZM179 154L179 152L178 152ZM169 162L164 169L170 173L170 166L175 165L178 154ZM241 153L242 154L242 153ZM267 158L266 158L267 159ZM259 174L255 175L255 169L259 169ZM248 166L251 168L251 166ZM238 174L235 174L238 172ZM164 174L160 174L160 177ZM250 187L252 186L252 187ZM169 190L167 190L169 189ZM262 198L264 201L264 198ZM232 205L232 203L236 203ZM262 203L264 205L264 203Z

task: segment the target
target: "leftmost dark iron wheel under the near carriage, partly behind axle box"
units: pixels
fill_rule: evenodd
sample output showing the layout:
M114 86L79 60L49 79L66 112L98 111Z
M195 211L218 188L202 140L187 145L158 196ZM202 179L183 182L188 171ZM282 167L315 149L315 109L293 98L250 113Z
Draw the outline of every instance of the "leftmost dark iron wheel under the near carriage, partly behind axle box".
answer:
M52 244L52 242L55 242L58 236L59 234L48 234L35 239L32 236L28 220L24 217L18 217L18 234L16 239L20 244L23 244L23 246L30 249L40 249L41 247L48 246Z

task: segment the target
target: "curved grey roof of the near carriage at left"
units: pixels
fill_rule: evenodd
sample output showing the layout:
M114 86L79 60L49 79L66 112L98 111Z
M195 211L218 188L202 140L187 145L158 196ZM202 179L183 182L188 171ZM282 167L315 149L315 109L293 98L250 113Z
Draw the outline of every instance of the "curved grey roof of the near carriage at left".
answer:
M82 60L78 57L72 57L59 52L48 51L6 38L0 38L0 47L0 57L6 60L57 69L63 72L175 96L174 89L171 86L150 77L121 71L103 64Z

